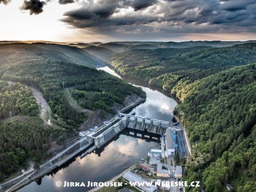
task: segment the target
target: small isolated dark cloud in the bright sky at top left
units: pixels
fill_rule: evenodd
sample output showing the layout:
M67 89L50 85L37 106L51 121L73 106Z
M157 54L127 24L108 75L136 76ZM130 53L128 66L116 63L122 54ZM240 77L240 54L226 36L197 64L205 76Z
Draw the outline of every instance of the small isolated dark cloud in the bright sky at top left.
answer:
M23 5L21 6L21 10L29 10L30 15L39 14L43 12L43 6L45 4L45 2L41 2L39 0L24 1Z

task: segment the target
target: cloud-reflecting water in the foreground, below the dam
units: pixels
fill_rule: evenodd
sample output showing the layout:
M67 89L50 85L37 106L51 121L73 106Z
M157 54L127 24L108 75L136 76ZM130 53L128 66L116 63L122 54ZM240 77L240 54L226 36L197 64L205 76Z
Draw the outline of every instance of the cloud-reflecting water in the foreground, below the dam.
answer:
M110 142L100 153L85 156L83 159L75 158L66 167L58 172L43 177L41 185L37 182L30 183L19 191L85 191L88 188L63 188L56 187L57 181L105 181L127 167L138 162L141 158L147 156L151 148L159 147L157 142L146 141L139 138L133 138L124 134L119 135L116 141ZM38 182L38 183L40 183Z

